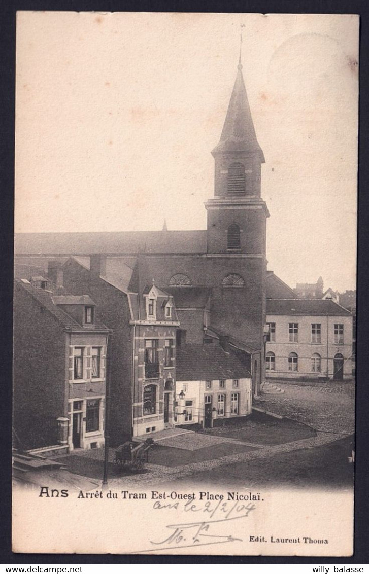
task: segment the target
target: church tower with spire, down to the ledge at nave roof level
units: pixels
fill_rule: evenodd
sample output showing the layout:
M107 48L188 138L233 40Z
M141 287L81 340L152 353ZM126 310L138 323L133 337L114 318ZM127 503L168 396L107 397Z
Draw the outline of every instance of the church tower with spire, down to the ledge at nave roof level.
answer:
M207 253L266 254L268 209L260 197L264 154L238 65L220 142L213 149L214 198L206 202Z

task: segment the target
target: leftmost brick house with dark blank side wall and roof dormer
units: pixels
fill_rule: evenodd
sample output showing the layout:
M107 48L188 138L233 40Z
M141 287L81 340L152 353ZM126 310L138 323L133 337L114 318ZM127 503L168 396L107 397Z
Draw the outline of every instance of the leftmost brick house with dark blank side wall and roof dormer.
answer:
M20 273L16 270L16 276ZM16 278L18 448L57 452L104 444L108 336L89 295L67 294L44 275Z

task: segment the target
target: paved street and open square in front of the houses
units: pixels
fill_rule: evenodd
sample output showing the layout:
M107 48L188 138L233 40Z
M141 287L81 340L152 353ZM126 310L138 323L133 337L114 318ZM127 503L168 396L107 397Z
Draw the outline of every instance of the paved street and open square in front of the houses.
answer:
M351 487L347 457L354 429L353 383L278 386L284 394L262 395L254 405L289 418L255 413L242 424L160 439L140 472L117 468L110 449L110 486L137 488L179 480L222 486ZM59 460L76 474L99 479L102 459L102 449L93 449Z

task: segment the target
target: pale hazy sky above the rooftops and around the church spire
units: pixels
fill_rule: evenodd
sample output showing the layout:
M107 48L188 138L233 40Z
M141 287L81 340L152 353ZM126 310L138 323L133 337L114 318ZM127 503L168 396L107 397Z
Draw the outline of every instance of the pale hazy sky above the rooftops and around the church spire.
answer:
M268 269L354 289L355 15L19 12L16 231L205 229L240 30Z

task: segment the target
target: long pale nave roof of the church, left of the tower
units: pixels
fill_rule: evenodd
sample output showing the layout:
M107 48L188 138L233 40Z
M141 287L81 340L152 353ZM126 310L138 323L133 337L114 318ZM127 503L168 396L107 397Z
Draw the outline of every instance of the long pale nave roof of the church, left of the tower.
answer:
M17 233L16 254L206 253L206 231Z

